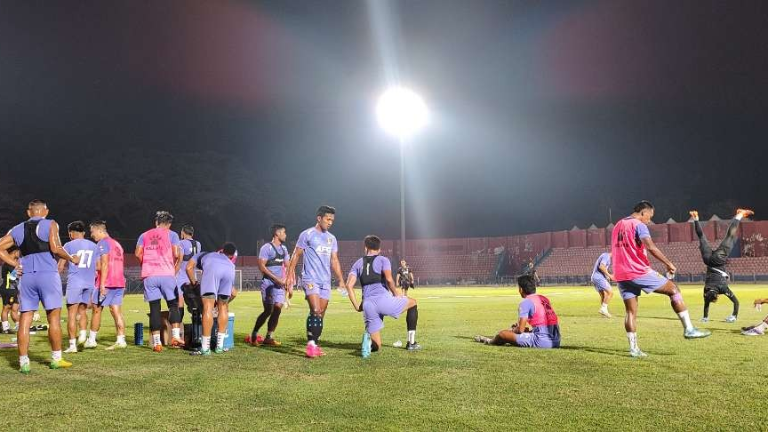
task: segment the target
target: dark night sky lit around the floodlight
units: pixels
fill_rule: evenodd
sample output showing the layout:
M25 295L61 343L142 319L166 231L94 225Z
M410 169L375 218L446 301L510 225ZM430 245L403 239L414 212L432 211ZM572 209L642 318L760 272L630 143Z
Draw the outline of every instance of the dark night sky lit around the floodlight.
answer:
M342 239L396 237L399 153L373 114L386 70L430 108L407 152L409 236L604 226L639 199L658 221L768 212L765 2L379 4L383 45L361 0L4 2L4 212L45 195L92 218L100 194L144 188L158 202L122 236L152 206L203 227L221 213L237 238L296 232L327 203ZM217 199L184 207L203 184Z

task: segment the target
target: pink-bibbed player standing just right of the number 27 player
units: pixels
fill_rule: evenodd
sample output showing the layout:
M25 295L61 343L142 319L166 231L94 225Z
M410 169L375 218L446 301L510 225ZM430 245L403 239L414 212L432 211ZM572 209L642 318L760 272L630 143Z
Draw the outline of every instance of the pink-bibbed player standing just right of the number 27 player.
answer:
M123 273L123 246L117 243L107 232L107 222L97 220L91 223L91 237L96 240L99 248L99 273L96 280L99 289L93 292L93 313L91 316L91 332L86 344L96 344L96 335L101 327L101 311L109 307L109 313L115 321L117 339L108 350L125 348L125 321L120 310L125 293L125 275ZM92 342L91 342L92 340Z

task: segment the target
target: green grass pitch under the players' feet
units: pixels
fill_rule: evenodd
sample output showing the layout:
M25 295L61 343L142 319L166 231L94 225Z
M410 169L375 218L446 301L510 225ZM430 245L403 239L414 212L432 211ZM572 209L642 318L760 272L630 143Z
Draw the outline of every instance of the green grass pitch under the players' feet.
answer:
M564 347L556 350L488 347L471 340L516 321L512 288L429 288L420 300L424 350L392 348L404 340L404 319L385 319L385 347L359 356L362 317L333 293L321 345L327 356L303 356L307 307L294 298L277 331L283 348L251 348L242 340L260 313L258 292L232 304L236 348L224 355L154 354L114 341L104 314L100 348L66 356L75 365L50 371L45 333L33 336L32 374L22 376L15 349L2 349L4 430L511 430L511 429L730 429L764 424L768 340L738 334L763 317L751 302L768 286L737 285L736 324L723 322L730 301L712 306L714 333L684 340L668 300L643 296L638 334L645 359L627 356L620 300L612 320L597 315L588 287L542 289L560 316ZM700 287L684 288L698 322ZM140 296L124 304L132 324L147 323ZM187 318L188 319L188 318ZM3 336L2 341L9 340ZM146 337L145 337L146 339ZM66 346L66 345L65 345Z

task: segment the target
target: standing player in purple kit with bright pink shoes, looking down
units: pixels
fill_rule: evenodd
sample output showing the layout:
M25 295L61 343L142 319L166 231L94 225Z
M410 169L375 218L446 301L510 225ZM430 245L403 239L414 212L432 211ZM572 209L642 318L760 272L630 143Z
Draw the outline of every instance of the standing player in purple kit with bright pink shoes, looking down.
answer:
M296 242L291 262L288 264L288 295L292 295L296 278L296 266L302 260L301 285L309 304L307 316L307 356L324 356L317 340L323 332L323 318L328 300L331 299L331 270L339 281L340 289L346 289L339 263L339 245L328 230L336 219L336 209L327 205L316 212L314 227L304 230Z

